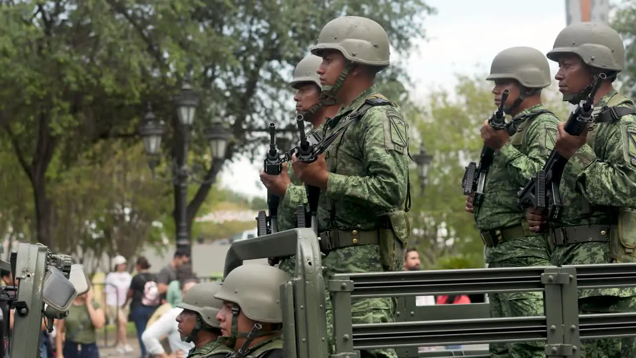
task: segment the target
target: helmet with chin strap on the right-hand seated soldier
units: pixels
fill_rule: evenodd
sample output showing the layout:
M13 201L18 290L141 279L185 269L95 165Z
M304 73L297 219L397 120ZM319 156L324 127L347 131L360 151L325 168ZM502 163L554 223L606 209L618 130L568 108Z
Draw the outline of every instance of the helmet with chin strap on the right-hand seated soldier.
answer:
M221 289L214 298L232 303L232 332L225 345L233 348L236 339L245 338L249 332L239 332L239 312L245 317L259 323L282 323L280 310L280 285L291 280L284 271L269 265L242 265L228 273L221 284ZM258 325L259 326L259 325ZM251 336L266 336L279 331L261 331L252 327Z

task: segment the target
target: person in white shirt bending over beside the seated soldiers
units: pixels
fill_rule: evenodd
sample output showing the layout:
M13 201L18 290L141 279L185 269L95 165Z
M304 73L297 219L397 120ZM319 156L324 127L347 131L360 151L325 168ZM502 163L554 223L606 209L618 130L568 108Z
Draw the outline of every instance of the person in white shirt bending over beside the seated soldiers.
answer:
M182 294L190 289L190 287L196 285L198 280L196 278L189 278L184 280L181 285ZM188 343L181 340L177 326L179 322L176 321L179 313L183 311L183 308L174 307L164 313L162 317L156 320L151 326L146 327L146 331L141 335L141 340L148 350L148 354L151 357L160 358L183 358L191 348L195 347L194 343ZM160 343L164 337L168 338L168 345L172 354L168 355L163 350L163 346Z

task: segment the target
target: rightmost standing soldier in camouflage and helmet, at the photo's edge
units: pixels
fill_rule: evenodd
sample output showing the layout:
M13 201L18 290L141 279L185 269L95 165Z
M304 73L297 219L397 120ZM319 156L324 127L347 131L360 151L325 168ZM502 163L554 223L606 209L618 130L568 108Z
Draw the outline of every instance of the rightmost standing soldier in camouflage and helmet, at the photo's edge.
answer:
M579 136L558 125L555 148L569 159L560 222L548 227L545 216L530 209L530 229L548 230L556 266L635 262L636 117L633 100L612 86L625 69L623 39L602 23L572 24L556 36L548 59L559 64L555 79L563 101L579 103L597 76L607 78L595 96L594 124ZM635 295L632 287L579 290L579 312L634 311ZM632 357L633 338L585 340L581 348L582 357Z

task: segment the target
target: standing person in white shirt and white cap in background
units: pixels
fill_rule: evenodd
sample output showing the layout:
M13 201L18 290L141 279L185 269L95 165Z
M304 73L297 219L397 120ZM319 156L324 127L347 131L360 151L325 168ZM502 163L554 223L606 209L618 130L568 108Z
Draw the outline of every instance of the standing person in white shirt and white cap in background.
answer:
M106 275L104 293L106 294L106 315L111 322L117 324L116 350L123 353L133 352L126 338L128 308L126 295L130 288L132 276L126 271L126 259L117 255L113 259L113 272Z

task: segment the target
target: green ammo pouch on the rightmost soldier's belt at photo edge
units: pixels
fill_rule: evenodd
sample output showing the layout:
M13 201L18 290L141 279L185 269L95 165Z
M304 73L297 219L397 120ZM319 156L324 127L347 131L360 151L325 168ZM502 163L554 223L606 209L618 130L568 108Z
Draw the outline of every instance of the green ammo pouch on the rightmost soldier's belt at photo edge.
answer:
M609 235L609 258L612 262L636 262L636 210L620 208L618 224Z

